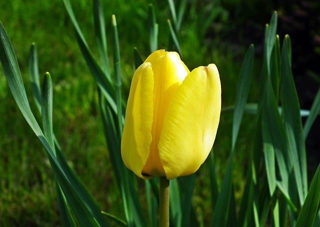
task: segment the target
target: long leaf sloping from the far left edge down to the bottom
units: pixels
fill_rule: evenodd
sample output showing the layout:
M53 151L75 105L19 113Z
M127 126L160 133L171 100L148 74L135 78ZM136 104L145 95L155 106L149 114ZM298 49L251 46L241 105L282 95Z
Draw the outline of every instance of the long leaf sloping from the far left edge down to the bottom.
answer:
M9 38L7 37L2 23L0 23L0 61L2 63L4 74L6 76L6 80L13 98L17 103L23 117L31 127L32 131L43 144L54 176L58 181L63 194L65 195L65 198L73 212L73 215L77 219L79 225L108 226L105 219L101 216L99 208L96 206L92 197L89 196L83 185L75 184L74 179L77 178L66 165L66 162L62 163L63 168L62 164L60 165L58 163L52 149L50 148L50 145L48 144L38 123L36 122L26 97L22 77L18 68L13 47ZM62 154L59 154L58 156L63 157ZM78 190L79 186L81 188L80 190Z

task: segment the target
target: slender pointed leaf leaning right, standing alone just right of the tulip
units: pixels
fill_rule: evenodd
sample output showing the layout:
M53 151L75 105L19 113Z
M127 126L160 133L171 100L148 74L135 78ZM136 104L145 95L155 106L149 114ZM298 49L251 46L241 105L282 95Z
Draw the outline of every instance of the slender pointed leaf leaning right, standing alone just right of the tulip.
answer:
M253 45L251 44L244 55L243 63L240 69L237 89L236 89L236 95L235 95L235 101L234 101L233 123L232 123L232 146L231 146L232 152L234 150L235 141L239 132L246 99L249 93L253 57L254 57L254 48L253 48Z

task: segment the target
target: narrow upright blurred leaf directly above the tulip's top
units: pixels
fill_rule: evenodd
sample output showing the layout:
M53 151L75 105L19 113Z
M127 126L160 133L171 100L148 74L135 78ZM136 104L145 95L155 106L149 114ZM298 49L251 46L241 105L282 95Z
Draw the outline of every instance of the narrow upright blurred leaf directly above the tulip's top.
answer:
M158 46L158 24L155 21L155 13L152 4L149 4L148 10L148 28L149 28L149 44L150 44L150 52L154 52L157 50Z

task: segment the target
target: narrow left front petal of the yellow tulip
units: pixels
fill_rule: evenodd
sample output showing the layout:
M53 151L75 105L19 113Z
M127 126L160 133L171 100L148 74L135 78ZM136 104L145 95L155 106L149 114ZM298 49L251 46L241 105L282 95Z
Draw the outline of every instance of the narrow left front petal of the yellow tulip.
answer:
M121 140L122 160L140 178L152 141L152 96L153 72L150 63L143 63L132 77Z

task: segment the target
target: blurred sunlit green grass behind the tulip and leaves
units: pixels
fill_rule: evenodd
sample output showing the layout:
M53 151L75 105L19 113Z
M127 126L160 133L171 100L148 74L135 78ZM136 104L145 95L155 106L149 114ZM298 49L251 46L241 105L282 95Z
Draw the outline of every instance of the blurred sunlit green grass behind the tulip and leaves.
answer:
M91 3L78 1L74 7L81 29L94 49ZM159 48L166 48L169 10L165 1L150 1L155 6L159 23ZM116 15L122 57L123 92L126 94L134 71L133 46L144 57L148 54L146 17L148 4L124 0L103 2L106 22ZM81 18L81 19L80 19ZM28 84L28 51L36 42L40 75L49 71L53 81L53 128L69 164L87 186L101 208L123 217L118 194L113 184L102 132L97 94L93 78L80 54L69 18L61 0L40 3L23 0L0 2L0 20L14 46L21 73L30 97ZM109 23L110 25L110 23ZM109 26L108 25L108 26ZM196 23L187 20L181 28L180 43L183 59L192 69L214 62L220 72L223 106L233 104L241 59L232 51L219 46L216 37L212 50L207 51L203 40L192 32ZM110 26L109 26L110 27ZM132 29L133 28L133 29ZM108 32L108 31L107 31ZM110 36L108 36L110 38ZM262 41L262 40L261 40ZM110 40L108 39L109 49ZM254 91L252 93L254 96ZM36 112L36 111L34 111ZM7 88L0 70L0 226L59 226L53 174L43 148L24 121ZM37 116L39 117L39 116ZM231 114L222 114L214 147L218 176L223 176L225 160L230 150ZM245 152L250 137L250 118L242 127L235 155L234 169L243 170ZM251 123L252 125L252 123ZM206 168L198 173L194 205L199 216L210 220L209 191ZM236 171L235 190L241 191L242 171ZM221 178L219 178L221 179Z

